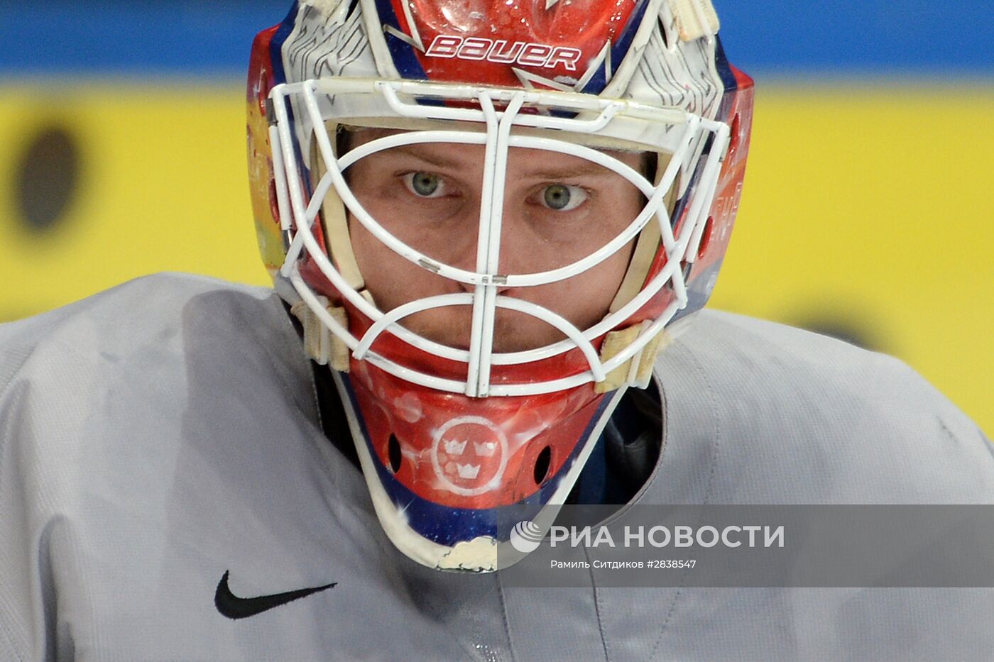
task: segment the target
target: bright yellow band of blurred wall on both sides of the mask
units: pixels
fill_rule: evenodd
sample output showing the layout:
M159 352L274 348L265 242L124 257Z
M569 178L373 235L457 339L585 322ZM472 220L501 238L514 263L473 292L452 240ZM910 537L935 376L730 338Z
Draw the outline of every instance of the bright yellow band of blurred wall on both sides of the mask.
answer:
M230 83L0 85L0 320L160 270L264 284L242 99ZM78 140L80 183L32 230L17 173L56 125ZM760 81L713 305L858 336L991 429L991 154L990 85Z

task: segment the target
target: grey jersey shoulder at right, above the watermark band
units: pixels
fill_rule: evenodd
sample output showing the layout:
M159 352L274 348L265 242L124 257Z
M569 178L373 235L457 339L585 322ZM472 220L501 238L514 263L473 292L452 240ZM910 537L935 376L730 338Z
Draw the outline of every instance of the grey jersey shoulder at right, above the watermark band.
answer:
M730 502L970 503L994 488L983 432L893 357L705 310L657 375L667 442L697 439L692 473L713 468Z

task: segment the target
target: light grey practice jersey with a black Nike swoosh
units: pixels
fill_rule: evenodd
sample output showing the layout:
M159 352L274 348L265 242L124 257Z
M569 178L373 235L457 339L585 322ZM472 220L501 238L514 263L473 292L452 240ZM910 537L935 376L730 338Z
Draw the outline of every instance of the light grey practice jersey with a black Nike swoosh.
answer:
M704 312L657 379L663 452L639 503L994 496L983 435L893 359ZM631 589L596 573L539 589L421 568L393 549L362 476L321 431L280 301L195 276L142 278L0 327L0 509L2 660L994 650L990 589ZM233 619L215 604L222 578L240 597L324 588Z

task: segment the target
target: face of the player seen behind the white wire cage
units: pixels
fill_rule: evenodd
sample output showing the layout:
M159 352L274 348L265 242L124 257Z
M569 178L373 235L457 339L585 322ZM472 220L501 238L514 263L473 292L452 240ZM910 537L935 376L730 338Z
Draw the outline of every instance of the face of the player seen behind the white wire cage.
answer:
M366 129L354 148L398 131ZM608 152L636 171L643 155ZM483 145L427 143L377 152L346 175L353 194L388 232L424 254L476 270L483 195ZM645 206L641 192L620 175L579 157L512 148L508 157L501 231L502 274L547 271L601 248ZM472 285L431 273L387 248L349 218L356 260L377 306L393 310L415 299L472 292ZM579 275L499 293L546 307L586 329L607 313L631 258L633 243ZM402 324L435 342L469 348L472 309L450 306L415 313ZM494 351L515 352L554 343L563 334L546 322L498 309Z

